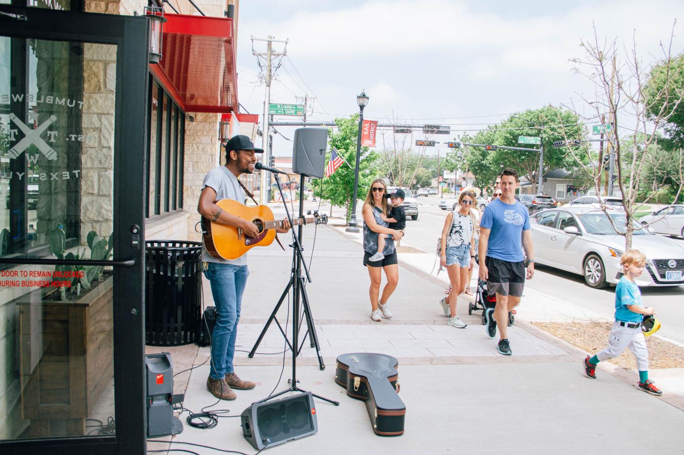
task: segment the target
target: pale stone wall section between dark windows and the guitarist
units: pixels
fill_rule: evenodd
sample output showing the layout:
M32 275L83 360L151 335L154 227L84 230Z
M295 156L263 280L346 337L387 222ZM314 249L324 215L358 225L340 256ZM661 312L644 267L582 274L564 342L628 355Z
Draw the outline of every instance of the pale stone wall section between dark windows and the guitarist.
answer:
M189 212L187 221L188 240L199 241L195 224L200 221L197 202L202 192L202 182L207 172L220 165L220 141L218 128L220 115L215 113L191 113L194 122L185 122L185 166L183 167L183 210Z

